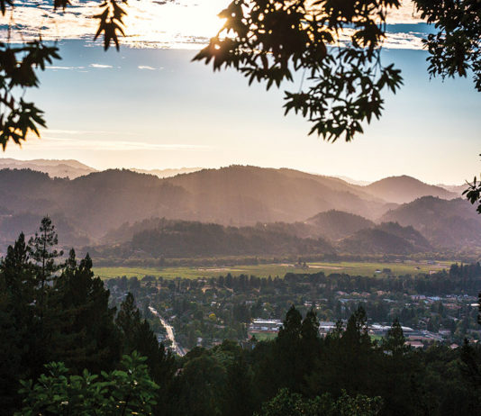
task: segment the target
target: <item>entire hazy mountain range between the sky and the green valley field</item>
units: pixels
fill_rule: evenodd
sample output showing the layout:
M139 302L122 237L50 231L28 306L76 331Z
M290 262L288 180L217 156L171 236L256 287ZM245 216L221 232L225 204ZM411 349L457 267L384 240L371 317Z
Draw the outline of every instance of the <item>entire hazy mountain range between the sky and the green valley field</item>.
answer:
M0 170L0 251L20 231L35 231L45 214L58 224L66 246L129 242L145 251L149 239L158 248L170 240L168 252L179 256L179 221L184 241L195 230L215 231L205 243L210 255L225 254L217 251L216 239L239 240L229 246L231 255L251 253L253 240L272 247L254 249L265 254L303 247L353 254L481 248L481 217L473 206L456 192L410 176L354 185L293 169L231 166L156 175L106 170L69 179L51 172L65 165L73 176L75 169L91 168L70 160L32 160L25 163L38 168L29 169L17 168L23 165L14 159L0 163L9 166ZM162 221L170 225L160 226ZM218 226L192 225L198 223ZM189 244L185 254L200 255Z

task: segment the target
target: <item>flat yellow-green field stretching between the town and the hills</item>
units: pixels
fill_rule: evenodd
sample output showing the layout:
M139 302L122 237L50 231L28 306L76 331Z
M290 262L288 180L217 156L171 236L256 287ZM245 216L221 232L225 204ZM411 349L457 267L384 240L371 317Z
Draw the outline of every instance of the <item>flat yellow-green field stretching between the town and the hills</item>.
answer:
M434 265L428 265L426 261L404 263L369 263L369 262L340 262L340 263L308 263L308 268L295 267L287 264L268 264L253 266L235 267L94 267L96 276L109 279L118 276L142 278L144 276L162 276L166 279L183 277L194 279L197 277L216 277L225 276L227 273L239 276L254 275L259 277L279 276L283 277L288 272L293 273L316 273L324 272L326 275L331 273L347 273L353 276L374 276L376 270L390 268L394 275L406 275L417 273L429 273L431 270L441 270L449 268L452 262L441 261ZM419 268L418 268L419 267ZM382 276L382 275L380 275Z

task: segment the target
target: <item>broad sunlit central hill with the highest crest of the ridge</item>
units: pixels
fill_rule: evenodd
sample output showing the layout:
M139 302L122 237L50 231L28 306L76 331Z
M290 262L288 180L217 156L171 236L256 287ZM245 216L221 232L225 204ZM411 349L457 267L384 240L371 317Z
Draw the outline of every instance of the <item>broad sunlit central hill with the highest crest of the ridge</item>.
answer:
M166 180L192 194L195 220L204 222L296 222L331 209L374 218L388 208L338 178L292 169L231 166Z

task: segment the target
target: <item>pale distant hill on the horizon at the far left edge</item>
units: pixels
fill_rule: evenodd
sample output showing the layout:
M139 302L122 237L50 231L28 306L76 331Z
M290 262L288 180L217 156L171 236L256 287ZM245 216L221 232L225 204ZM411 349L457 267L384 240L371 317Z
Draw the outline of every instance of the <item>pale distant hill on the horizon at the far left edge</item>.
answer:
M88 167L77 160L17 160L14 158L0 158L0 169L32 169L43 172L50 177L68 177L75 179L78 176L95 172L93 167Z

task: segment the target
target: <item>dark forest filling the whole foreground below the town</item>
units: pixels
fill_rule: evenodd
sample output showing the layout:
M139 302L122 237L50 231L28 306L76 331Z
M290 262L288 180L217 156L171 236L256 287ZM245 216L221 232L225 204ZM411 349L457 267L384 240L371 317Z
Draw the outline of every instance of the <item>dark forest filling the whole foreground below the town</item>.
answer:
M292 305L276 339L241 345L225 340L174 357L158 343L132 294L115 309L89 256L78 261L72 250L60 261L56 244L56 231L45 218L35 236L27 242L20 235L0 263L3 414L481 411L476 344L414 350L406 347L397 320L386 338L373 340L362 307L324 338L315 312L303 317ZM449 270L461 285L478 272L479 265ZM286 276L286 283L302 285L303 278Z

